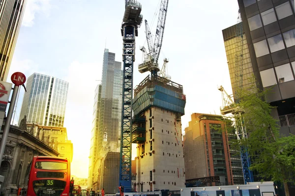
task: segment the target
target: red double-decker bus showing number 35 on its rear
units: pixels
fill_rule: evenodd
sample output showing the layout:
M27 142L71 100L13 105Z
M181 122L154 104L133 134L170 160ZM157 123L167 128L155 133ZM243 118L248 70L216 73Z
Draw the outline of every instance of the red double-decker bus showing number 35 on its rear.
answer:
M70 161L66 158L34 156L29 167L27 196L70 195Z

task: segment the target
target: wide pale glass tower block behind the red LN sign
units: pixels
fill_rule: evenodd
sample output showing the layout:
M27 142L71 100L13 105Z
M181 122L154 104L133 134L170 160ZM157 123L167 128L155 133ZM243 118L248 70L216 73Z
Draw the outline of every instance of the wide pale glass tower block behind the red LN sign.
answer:
M69 83L61 79L33 73L27 80L20 121L45 126L63 126Z

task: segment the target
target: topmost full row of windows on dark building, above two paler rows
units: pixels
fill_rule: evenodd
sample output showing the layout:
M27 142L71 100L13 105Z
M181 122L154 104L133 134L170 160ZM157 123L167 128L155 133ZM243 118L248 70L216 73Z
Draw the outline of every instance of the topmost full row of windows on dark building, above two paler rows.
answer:
M293 1L293 7L294 7L294 1ZM275 6L275 11L278 16L278 20L281 20L283 18L293 15L289 1L284 2L278 6ZM261 17L260 17L260 14L257 14L255 16L248 18L250 30L252 31L262 27L263 25L265 26L265 25L269 25L271 23L276 22L277 18L275 15L275 11L273 8L271 8L262 12Z

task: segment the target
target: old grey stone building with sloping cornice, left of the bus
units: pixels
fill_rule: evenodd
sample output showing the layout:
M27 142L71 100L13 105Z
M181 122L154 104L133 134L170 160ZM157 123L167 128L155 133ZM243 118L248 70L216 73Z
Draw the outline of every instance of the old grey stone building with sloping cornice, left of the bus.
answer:
M0 137L2 137L4 124L5 122L3 122ZM36 137L33 132L28 131L26 126L10 125L0 166L0 175L4 176L4 181L0 184L0 193L3 193L4 196L15 196L18 187L27 186L25 184L26 172L32 157L44 155L59 156L59 152L44 143L44 140Z

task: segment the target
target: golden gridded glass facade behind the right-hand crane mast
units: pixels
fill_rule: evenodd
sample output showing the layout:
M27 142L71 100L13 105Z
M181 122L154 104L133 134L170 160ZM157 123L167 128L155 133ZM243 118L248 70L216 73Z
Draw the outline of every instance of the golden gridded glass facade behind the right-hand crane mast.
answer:
M233 95L235 95L236 25L222 30ZM250 87L253 69L245 34L243 35L243 87Z

